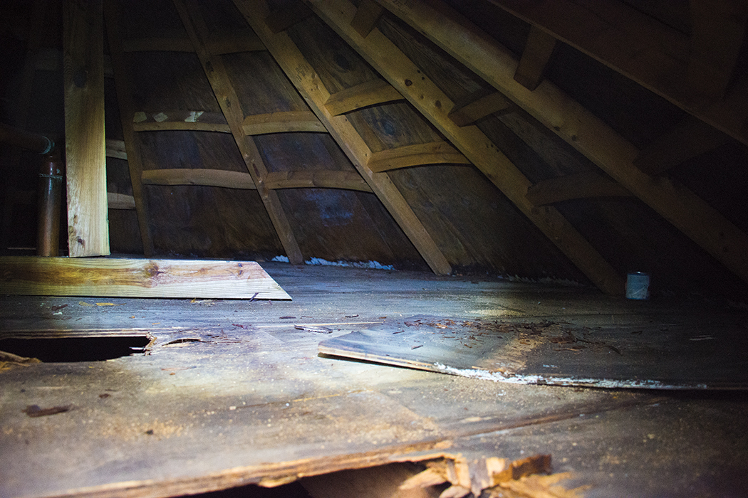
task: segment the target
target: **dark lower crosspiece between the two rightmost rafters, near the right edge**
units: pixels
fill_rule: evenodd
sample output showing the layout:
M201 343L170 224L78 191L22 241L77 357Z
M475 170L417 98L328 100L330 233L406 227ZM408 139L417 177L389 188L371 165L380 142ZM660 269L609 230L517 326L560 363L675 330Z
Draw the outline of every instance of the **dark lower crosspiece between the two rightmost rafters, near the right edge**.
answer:
M726 143L729 137L693 116L642 149L634 165L648 175L660 175L678 164Z

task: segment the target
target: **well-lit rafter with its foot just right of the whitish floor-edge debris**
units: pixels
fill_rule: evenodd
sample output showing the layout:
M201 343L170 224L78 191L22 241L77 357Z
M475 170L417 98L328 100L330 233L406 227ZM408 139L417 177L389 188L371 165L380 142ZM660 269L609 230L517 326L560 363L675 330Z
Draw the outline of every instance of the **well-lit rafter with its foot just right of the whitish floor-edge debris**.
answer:
M358 131L346 116L334 116L328 111L325 103L328 102L330 93L320 83L313 67L287 34L274 34L266 25L263 16L263 10L267 9L265 2L234 0L234 3L429 267L438 274L451 273L452 268L447 258L444 258L387 173L375 173L367 167L372 152Z

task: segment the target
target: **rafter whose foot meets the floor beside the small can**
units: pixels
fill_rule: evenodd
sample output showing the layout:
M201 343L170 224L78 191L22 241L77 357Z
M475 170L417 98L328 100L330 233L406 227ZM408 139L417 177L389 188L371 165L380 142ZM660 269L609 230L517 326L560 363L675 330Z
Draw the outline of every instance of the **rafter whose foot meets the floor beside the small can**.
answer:
M366 38L350 28L355 7L346 0L312 1L316 13L357 50L408 102L426 116L559 249L604 292L621 294L623 281L582 235L552 207L537 208L525 194L528 180L476 126L457 126L448 116L453 102L381 31ZM513 80L512 80L513 81ZM527 91L527 90L525 90Z

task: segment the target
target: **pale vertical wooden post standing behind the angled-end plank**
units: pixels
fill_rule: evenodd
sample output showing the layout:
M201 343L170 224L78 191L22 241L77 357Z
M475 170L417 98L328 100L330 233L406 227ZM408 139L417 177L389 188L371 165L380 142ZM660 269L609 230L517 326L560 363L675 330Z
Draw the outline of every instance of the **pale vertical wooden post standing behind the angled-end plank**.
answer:
M102 0L66 0L63 33L68 249L108 255Z

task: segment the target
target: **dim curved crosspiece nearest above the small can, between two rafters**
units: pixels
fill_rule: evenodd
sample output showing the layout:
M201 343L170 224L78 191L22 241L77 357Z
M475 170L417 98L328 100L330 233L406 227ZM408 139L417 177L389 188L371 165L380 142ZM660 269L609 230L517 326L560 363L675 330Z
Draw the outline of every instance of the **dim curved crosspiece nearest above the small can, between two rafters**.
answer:
M633 194L597 172L583 172L540 181L527 189L527 200L534 206L589 197L627 197Z

